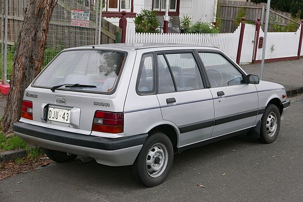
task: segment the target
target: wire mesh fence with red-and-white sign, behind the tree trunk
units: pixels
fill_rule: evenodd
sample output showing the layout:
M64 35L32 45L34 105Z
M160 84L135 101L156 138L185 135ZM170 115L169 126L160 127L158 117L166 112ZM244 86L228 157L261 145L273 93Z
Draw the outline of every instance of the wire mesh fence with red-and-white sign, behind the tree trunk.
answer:
M49 30L45 44L44 62L42 68L51 61L61 50L70 47L97 44L100 41L99 24L101 0L58 0L49 22ZM8 16L5 15L6 3ZM12 75L12 66L19 32L22 28L28 0L1 0L0 11L2 13L1 28L2 42L5 45L5 19L7 18L7 80ZM107 25L103 22L102 25ZM119 27L118 27L119 28ZM115 35L115 33L113 33ZM115 41L112 41L115 42ZM2 48L3 49L3 48ZM2 71L1 79L4 80L4 50L0 61Z

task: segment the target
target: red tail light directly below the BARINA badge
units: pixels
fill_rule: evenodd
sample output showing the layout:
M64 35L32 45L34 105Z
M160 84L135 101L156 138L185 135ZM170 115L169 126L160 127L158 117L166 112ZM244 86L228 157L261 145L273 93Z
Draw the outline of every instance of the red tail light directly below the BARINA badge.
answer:
M92 130L98 132L123 132L123 113L96 111L93 117Z

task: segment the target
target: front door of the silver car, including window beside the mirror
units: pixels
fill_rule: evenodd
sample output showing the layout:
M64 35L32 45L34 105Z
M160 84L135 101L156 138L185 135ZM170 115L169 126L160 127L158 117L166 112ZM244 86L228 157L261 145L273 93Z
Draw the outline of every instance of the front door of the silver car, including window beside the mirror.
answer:
M245 74L221 52L198 53L214 97L215 125L212 137L252 127L258 114L258 93L246 84Z

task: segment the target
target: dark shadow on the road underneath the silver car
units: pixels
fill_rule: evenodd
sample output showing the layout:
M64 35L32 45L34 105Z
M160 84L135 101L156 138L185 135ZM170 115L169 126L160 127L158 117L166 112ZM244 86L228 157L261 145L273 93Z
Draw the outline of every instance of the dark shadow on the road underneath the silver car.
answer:
M174 177L190 169L197 161L204 162L220 157L222 154L242 147L254 147L260 145L258 140L247 137L245 134L212 143L203 147L190 149L174 156L173 167L170 176ZM77 176L78 186L97 186L99 188L117 189L120 191L133 191L134 188L146 189L132 176L131 166L111 167L97 164L95 161L79 164L77 160L68 163L56 163L60 172L57 177L64 176L68 181L72 181ZM57 172L54 174L57 175ZM170 178L171 178L170 177ZM172 180L172 179L171 179ZM165 184L165 183L164 183ZM164 186L164 185L160 185Z

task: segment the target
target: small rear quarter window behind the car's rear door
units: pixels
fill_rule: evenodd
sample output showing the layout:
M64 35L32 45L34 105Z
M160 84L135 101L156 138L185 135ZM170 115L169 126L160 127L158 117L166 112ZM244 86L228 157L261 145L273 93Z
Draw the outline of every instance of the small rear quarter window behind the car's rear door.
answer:
M140 62L137 80L138 93L153 93L155 91L154 72L154 55L143 55Z

